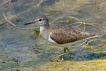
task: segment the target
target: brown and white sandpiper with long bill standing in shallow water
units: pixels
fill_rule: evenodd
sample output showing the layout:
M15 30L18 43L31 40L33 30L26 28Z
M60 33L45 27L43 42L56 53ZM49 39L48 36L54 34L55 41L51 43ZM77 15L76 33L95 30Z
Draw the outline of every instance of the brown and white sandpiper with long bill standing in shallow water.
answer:
M46 16L38 16L35 21L26 23L25 25L35 23L38 23L40 26L40 35L47 41L54 44L63 45L97 36L95 34L77 31L66 26L49 24L48 18ZM64 53L67 53L67 51L68 53L70 52L67 47L64 47Z

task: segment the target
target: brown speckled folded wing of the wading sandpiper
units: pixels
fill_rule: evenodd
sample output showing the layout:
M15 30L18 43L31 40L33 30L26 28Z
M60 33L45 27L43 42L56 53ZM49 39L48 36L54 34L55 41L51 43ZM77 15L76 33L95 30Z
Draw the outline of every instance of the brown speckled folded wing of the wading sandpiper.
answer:
M50 38L58 44L75 42L77 40L94 36L94 34L79 32L66 27L64 29L63 28L64 27L61 27L61 29L58 28L56 31L52 31L52 34L50 35Z

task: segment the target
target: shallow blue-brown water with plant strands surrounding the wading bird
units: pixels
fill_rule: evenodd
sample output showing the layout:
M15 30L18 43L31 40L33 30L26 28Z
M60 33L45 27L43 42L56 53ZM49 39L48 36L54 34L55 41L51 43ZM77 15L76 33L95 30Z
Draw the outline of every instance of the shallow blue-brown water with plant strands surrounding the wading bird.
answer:
M34 34L33 29L25 29L35 28L34 25L25 26L24 23L33 21L39 15L46 15L51 24L68 25L77 30L103 35L100 40L89 43L89 48L80 46L84 41L70 45L70 54L64 56L66 61L89 61L106 57L105 0L41 1L0 0L1 71L16 71L23 67L37 69L42 64L51 62L52 56L63 52L63 48L50 44L41 37L36 39L37 34ZM3 13L19 28L7 23Z

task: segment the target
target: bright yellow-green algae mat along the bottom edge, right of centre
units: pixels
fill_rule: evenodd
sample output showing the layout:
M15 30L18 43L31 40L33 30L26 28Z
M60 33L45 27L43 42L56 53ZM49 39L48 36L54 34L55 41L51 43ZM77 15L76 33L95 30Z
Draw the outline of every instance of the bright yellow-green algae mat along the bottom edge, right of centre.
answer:
M52 62L44 65L39 71L105 71L106 60L81 62Z

